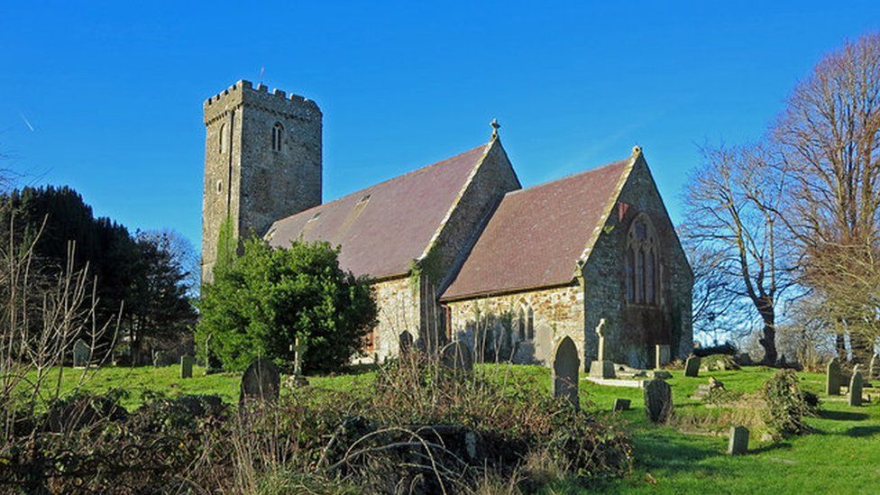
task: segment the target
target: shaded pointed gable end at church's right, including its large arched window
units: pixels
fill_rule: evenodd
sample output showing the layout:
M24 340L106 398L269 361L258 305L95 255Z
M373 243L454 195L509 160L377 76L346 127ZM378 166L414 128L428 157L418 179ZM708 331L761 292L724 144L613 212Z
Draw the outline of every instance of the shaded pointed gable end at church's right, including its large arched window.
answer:
M655 345L691 351L692 272L645 158L639 153L583 266L584 326L605 320L614 362L654 365ZM586 359L597 353L587 332Z

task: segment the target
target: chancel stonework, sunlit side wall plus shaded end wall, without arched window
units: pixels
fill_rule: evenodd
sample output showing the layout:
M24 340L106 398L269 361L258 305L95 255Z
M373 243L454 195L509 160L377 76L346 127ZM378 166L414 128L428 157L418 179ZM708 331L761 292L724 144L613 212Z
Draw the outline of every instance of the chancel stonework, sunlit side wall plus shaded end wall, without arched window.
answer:
M528 305L535 315L535 339L527 343L530 348L521 346L527 352L518 352L515 362L548 364L555 344L570 336L583 356L582 371L589 371L599 344L592 329L601 318L606 320L606 359L611 362L649 367L654 361L656 344L670 345L674 357L679 359L690 354L691 267L640 153L631 167L621 179L617 201L610 202L607 219L579 273L573 260L571 285L450 301L447 305L452 312L454 334L472 344L477 314L483 318L495 316L491 325L502 329L504 322L509 321L504 316L516 316L520 307ZM621 211L625 213L621 215ZM659 237L661 293L657 307L629 305L625 301L628 228L643 213L648 215Z

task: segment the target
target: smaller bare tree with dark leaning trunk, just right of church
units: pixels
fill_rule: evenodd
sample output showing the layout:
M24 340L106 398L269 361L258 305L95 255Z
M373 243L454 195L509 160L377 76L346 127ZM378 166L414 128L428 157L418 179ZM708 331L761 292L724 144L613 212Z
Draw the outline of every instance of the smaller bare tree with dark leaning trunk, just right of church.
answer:
M771 166L773 156L760 146L701 151L704 164L692 174L684 195L685 243L711 261L707 276L714 280L714 294L709 297L720 299L708 307L749 303L762 324L763 361L773 363L777 303L793 284L776 213L784 174Z

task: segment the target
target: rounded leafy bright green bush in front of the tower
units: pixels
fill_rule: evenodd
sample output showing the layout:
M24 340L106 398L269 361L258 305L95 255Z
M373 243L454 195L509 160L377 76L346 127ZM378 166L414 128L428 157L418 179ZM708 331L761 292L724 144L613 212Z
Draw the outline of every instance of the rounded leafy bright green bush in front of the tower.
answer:
M341 270L328 243L272 249L256 238L240 257L217 262L198 307L202 357L216 356L228 371L258 356L293 362L297 339L307 347L304 370L338 371L360 350L378 313L368 280Z

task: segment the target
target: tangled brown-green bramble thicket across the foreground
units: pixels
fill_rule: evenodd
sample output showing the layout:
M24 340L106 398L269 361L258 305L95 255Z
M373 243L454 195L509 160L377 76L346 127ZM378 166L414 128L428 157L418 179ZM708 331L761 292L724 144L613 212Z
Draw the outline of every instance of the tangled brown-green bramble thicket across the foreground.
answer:
M303 389L237 411L152 396L67 435L15 437L0 449L0 491L475 493L630 472L619 426L508 385L414 354L353 393Z

